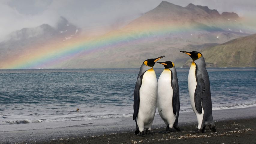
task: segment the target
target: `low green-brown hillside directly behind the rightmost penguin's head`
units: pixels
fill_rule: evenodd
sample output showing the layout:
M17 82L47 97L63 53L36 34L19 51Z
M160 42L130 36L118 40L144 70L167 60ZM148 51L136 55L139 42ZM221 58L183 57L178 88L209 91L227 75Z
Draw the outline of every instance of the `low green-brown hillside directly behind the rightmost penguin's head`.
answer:
M256 34L203 49L206 67L256 67ZM183 67L190 67L188 60Z

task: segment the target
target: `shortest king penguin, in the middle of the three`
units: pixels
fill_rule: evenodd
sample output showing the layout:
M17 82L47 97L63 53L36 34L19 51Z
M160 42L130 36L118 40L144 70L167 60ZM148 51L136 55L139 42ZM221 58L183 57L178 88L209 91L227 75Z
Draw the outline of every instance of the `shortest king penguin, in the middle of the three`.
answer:
M157 109L166 125L166 131L162 131L161 133L172 132L173 128L176 131L180 131L178 126L179 84L176 68L171 61L157 63L163 64L165 67L157 82Z

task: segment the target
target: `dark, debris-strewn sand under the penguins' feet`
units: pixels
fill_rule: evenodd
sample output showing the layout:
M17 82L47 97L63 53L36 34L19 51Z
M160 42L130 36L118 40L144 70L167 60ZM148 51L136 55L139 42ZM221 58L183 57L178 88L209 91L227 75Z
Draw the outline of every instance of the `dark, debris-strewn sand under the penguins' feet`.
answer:
M195 125L181 125L181 132L159 134L163 128L152 130L152 135L141 137L133 132L87 137L70 137L41 143L251 143L256 144L256 118L216 122L217 131L193 134Z

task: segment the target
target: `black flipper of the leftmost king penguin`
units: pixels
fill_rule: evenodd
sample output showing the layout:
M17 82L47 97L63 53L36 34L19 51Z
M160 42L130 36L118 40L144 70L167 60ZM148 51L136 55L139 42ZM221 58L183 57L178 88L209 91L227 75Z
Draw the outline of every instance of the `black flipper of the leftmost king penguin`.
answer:
M132 119L136 119L138 112L139 112L139 107L140 107L140 86L141 86L141 81L142 81L142 77L138 77L136 85L135 85L135 89L133 92L133 96L134 96L134 104L133 104L133 117Z

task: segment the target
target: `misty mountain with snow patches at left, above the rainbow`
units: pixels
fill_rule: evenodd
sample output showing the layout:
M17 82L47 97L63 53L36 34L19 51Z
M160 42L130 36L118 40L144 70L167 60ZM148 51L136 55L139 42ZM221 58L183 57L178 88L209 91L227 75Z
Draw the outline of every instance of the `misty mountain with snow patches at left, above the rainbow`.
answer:
M9 34L5 41L0 43L0 61L8 58L27 57L39 50L41 45L50 43L62 43L71 38L76 38L80 33L79 28L69 23L64 17L60 17L57 27L48 24L34 28L23 28ZM4 64L0 62L0 68Z

